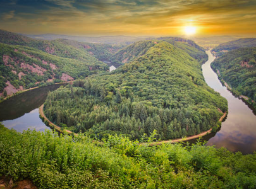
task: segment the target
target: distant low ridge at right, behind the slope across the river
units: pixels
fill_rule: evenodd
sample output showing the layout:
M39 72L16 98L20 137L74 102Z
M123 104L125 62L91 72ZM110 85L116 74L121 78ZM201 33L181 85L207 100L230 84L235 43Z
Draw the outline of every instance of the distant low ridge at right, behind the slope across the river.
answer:
M229 50L235 50L244 47L256 47L256 38L240 38L239 40L222 43L212 49L212 52L217 56L221 56Z

